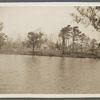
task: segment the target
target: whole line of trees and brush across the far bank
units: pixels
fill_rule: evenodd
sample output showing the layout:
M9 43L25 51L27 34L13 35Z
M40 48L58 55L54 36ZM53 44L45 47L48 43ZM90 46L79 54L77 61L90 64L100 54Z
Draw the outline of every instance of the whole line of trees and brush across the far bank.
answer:
M53 42L45 37L42 32L29 32L27 39L13 41L7 35L0 32L0 53L14 54L40 54L42 55L66 55L67 53L99 52L99 43L96 39L90 39L82 33L78 26L67 25L58 34L59 40ZM36 53L37 52L37 53ZM53 54L52 54L53 52Z

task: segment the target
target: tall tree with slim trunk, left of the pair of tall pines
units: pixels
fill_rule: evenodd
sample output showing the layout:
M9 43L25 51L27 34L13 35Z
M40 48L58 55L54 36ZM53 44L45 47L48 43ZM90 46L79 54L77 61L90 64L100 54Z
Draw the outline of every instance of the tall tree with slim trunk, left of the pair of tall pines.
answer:
M59 37L62 38L63 54L65 53L65 40L69 38L71 30L72 27L70 25L67 25L67 27L64 27L60 30Z

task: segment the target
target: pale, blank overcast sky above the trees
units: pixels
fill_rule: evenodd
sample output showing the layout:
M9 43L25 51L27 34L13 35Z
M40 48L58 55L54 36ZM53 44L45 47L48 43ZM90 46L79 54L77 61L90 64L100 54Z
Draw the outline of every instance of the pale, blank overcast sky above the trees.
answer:
M44 34L52 34L55 39L62 27L76 25L71 13L76 13L74 7L0 7L0 21L4 23L3 32L9 36L25 37L28 32L41 28ZM91 27L79 25L79 28L91 38L100 38L100 32Z

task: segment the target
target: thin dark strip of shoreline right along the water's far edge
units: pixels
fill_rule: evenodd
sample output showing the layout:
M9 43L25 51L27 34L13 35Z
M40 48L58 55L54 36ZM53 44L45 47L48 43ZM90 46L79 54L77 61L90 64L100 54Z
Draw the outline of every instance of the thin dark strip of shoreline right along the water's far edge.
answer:
M96 54L86 54L86 53L65 53L65 54L41 54L40 52L32 54L32 53L5 53L2 52L0 54L4 55L30 55L30 56L48 56L48 57L67 57L67 58L93 58L93 59L100 59L100 56Z

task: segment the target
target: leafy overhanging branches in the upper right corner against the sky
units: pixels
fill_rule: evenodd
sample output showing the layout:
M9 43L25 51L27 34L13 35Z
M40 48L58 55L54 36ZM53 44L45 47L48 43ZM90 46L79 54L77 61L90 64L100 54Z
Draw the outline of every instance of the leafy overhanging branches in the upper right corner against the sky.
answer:
M78 14L72 13L73 20L77 23L82 23L85 26L93 26L97 31L100 30L100 7L88 6L88 7L75 7Z

